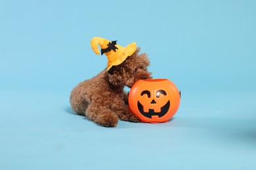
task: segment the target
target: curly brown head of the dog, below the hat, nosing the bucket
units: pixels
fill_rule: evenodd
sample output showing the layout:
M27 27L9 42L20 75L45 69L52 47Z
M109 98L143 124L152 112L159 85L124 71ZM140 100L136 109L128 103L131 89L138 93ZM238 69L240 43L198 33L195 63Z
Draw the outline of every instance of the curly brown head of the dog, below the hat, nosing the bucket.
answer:
M127 86L131 88L137 80L150 79L152 73L147 71L150 61L146 53L138 54L140 48L129 56L120 65L113 66L108 71L109 82L114 86Z

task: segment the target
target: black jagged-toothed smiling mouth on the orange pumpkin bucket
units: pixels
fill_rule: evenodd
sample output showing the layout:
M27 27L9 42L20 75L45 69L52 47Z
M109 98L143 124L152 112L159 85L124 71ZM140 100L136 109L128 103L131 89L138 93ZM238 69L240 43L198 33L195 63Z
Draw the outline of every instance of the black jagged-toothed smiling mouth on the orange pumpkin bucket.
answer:
M141 103L138 101L137 103L138 105L138 109L140 111L140 113L147 117L147 118L152 118L152 116L158 116L158 118L161 118L162 116L164 116L169 108L170 108L170 101L167 101L167 103L161 107L161 112L155 112L154 109L148 109L148 112L144 112L143 106L141 105Z

